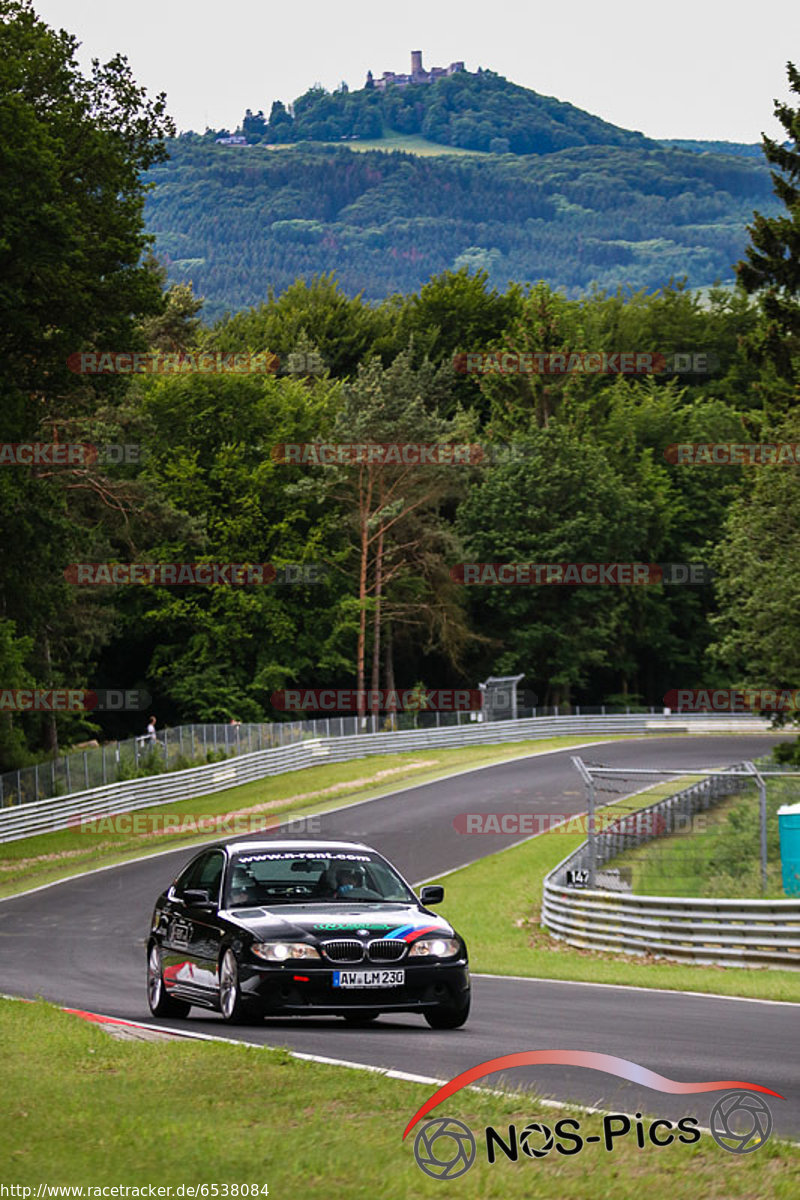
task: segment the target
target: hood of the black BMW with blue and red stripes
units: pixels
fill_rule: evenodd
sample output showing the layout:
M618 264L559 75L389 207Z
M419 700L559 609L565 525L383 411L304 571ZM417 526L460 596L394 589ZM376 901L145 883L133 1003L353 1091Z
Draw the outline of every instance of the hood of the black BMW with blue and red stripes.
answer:
M444 917L404 904L281 905L275 908L234 908L230 917L263 940L311 936L324 941L331 937L371 941L396 937L410 942L427 932L445 936L453 932Z

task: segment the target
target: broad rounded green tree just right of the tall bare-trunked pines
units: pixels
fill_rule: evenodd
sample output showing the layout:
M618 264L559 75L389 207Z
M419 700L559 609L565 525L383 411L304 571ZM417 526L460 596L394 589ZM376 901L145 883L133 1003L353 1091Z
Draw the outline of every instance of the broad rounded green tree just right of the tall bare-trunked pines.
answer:
M523 461L488 467L458 510L465 560L606 563L637 557L648 505L600 446L563 426L517 436ZM541 703L569 702L610 667L625 618L618 587L474 586L471 623L500 641L483 668L523 672ZM499 653L498 653L499 652Z

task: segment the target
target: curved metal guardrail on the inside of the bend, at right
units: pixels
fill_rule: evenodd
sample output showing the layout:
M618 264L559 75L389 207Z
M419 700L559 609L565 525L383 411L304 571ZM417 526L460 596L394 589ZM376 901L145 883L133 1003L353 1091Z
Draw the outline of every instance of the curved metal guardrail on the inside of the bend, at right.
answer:
M692 816L746 785L745 775L714 775L626 814L596 838L596 865L669 833L679 815ZM655 814L663 820L654 821ZM552 937L579 949L800 970L798 900L705 900L567 887L567 871L587 870L588 864L589 847L583 842L545 877L541 924Z

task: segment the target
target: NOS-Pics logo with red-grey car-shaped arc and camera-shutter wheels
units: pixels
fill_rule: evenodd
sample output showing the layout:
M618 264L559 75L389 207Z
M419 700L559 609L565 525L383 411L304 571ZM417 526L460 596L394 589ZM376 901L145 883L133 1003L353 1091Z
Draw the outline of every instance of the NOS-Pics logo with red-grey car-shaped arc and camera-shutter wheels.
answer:
M602 1070L672 1096L726 1091L711 1109L709 1127L716 1144L732 1154L751 1154L770 1136L772 1114L763 1094L784 1098L769 1087L735 1079L681 1084L614 1055L585 1050L528 1050L491 1058L456 1075L415 1112L405 1127L403 1139L405 1140L422 1117L462 1087L468 1087L494 1072L545 1063ZM573 1117L563 1117L553 1124L531 1121L522 1128L516 1124L504 1129L487 1126L483 1130L485 1153L487 1162L493 1164L500 1159L516 1163L521 1156L530 1159L545 1158L551 1152L569 1157L581 1153L590 1142L600 1142L606 1151L613 1151L619 1139L633 1139L638 1150L644 1150L648 1145L669 1146L674 1141L692 1145L700 1140L702 1130L698 1124L698 1120L691 1116L672 1121L664 1117L643 1118L640 1112L633 1117L624 1112L607 1112L602 1117L601 1134L582 1134L581 1122ZM420 1169L432 1178L456 1180L471 1168L477 1157L477 1145L475 1135L463 1121L457 1121L455 1117L434 1117L426 1121L417 1130L414 1139L414 1157Z

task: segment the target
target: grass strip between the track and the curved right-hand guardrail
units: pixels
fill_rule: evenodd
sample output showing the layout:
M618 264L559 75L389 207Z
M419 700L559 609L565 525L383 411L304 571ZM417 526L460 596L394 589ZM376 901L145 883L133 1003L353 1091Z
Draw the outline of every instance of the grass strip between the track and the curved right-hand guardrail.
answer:
M642 806L688 782L648 790ZM625 811L632 810L627 800ZM612 806L599 814L613 811ZM541 834L440 880L445 887L441 912L467 938L473 971L800 1002L800 971L672 964L581 950L551 938L539 923L545 876L584 839L582 830L571 833L567 824L564 832Z

